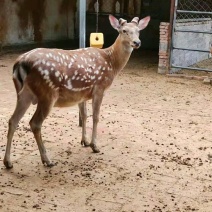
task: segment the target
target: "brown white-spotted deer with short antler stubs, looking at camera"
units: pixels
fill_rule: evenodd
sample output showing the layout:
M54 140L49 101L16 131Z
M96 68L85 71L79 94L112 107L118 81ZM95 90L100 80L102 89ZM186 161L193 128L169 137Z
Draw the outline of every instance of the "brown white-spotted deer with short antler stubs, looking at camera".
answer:
M11 143L18 122L31 104L37 109L30 120L43 164L51 167L41 137L41 126L52 107L79 105L82 118L83 146L90 146L98 153L96 145L97 124L103 95L115 76L124 68L133 49L141 45L140 30L150 17L139 21L138 17L127 23L109 16L110 24L119 32L115 43L105 49L82 48L77 50L37 48L18 57L13 67L13 81L17 92L17 104L9 120L7 146L4 157L6 168L12 168ZM92 99L93 131L91 143L86 137L86 104Z

